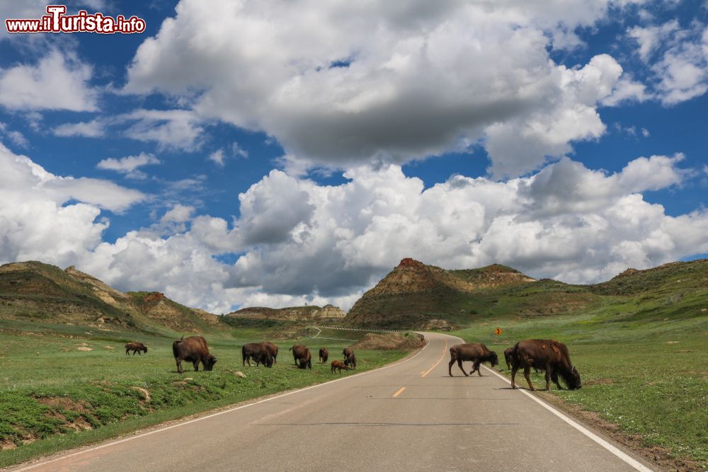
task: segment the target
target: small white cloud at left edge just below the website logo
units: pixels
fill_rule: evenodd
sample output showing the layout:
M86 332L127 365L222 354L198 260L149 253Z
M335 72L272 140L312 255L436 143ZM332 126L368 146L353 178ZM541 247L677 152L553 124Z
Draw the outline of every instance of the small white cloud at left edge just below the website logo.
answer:
M50 50L38 64L0 70L0 105L11 110L95 111L91 67L75 54Z

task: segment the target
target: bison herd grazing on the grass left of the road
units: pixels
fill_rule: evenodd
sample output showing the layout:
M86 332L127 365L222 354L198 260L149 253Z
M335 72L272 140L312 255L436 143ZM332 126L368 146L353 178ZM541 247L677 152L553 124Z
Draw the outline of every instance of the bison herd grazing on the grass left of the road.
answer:
M312 370L312 353L309 347L298 344L288 349L292 351L292 357L295 359L295 365L299 369ZM125 355L132 351L133 355L137 352L147 353L147 347L143 343L127 343L125 345ZM190 336L176 340L172 343L172 353L177 364L177 372L183 374L182 361L192 362L195 372L199 371L199 363L202 363L202 368L205 371L213 369L217 358L212 356L207 346L207 340L201 336ZM356 369L356 355L351 347L345 347L342 351L343 361L333 360L331 363L331 372L338 371L341 374L342 369ZM263 341L263 343L247 343L241 347L241 363L245 366L251 361L256 362L256 367L263 364L265 367L273 367L278 361L278 345ZM321 347L319 350L319 362L324 364L329 359L329 350L326 347ZM462 365L462 364L460 364Z

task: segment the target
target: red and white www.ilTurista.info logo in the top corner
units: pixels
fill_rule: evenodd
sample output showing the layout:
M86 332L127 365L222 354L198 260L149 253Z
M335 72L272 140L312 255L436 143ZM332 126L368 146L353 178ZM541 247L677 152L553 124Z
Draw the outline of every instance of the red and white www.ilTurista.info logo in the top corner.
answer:
M7 19L8 33L142 33L145 21L133 15L130 18L118 15L115 18L103 13L80 10L76 15L67 15L66 5L47 5L47 14L38 19Z

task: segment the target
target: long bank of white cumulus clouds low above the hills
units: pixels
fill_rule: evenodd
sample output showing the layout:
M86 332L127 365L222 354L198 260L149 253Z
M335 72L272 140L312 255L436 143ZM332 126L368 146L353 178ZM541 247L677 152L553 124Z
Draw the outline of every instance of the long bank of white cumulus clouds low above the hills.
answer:
M154 226L113 243L101 241L101 207L141 195L57 177L6 149L0 157L0 260L74 264L118 289L160 290L217 313L304 302L347 309L405 257L595 282L708 251L707 212L672 217L642 195L695 175L680 167L682 154L640 157L617 173L565 158L524 178L454 175L431 188L394 164L353 168L341 185L275 170L239 195L239 217L173 204Z

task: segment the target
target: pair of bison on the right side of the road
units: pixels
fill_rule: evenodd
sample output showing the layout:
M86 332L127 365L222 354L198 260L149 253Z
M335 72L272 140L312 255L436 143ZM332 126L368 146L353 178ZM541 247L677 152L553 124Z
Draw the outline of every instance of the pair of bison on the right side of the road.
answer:
M511 387L516 388L515 378L516 372L523 369L524 377L529 384L531 390L535 390L530 379L530 370L533 367L536 372L543 371L546 374L546 390L549 389L551 381L558 388L558 377L566 383L570 390L581 388L580 374L578 369L573 367L571 357L568 352L568 347L563 343L559 343L553 339L527 339L519 341L513 347L509 347L504 351L504 359L506 366L511 369ZM470 343L458 344L450 347L450 364L448 364L447 372L452 376L452 364L457 362L457 366L465 376L469 376L462 368L463 361L472 362L472 371L469 374L477 372L481 376L479 365L482 362L489 362L491 367L499 364L499 359L496 352L490 351L484 344Z

